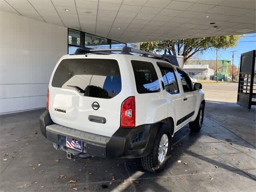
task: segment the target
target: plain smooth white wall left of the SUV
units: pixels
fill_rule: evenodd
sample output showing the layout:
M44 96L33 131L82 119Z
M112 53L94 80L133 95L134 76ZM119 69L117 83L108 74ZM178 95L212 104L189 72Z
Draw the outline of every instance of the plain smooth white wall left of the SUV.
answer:
M0 11L0 114L45 107L67 28Z

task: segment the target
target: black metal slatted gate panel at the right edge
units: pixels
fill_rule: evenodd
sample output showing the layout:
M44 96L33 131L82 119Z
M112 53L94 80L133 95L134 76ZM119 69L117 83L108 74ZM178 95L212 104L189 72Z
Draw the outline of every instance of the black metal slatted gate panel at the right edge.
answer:
M248 109L256 105L256 50L241 54L237 104Z

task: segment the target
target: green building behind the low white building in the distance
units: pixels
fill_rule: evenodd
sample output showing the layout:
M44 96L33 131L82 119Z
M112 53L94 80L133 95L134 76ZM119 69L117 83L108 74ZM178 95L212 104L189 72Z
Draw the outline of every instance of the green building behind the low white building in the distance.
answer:
M216 60L189 60L186 62L187 65L209 65L209 68L216 71ZM218 73L230 75L231 61L230 60L218 60Z

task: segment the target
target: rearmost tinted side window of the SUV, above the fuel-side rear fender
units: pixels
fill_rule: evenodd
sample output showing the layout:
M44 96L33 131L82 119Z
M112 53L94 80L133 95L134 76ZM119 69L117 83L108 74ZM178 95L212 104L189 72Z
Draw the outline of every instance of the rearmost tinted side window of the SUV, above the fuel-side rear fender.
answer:
M160 92L160 83L152 63L132 60L137 92L140 94Z

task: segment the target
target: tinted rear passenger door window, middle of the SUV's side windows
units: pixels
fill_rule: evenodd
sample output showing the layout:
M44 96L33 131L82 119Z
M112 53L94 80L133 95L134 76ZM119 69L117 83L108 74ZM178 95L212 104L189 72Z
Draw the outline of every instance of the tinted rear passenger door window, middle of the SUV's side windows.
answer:
M175 94L179 92L178 89L178 85L177 85L177 80L176 77L174 75L174 71L171 68L165 68L165 69L161 69L162 75L163 75L163 79L164 79L164 85L165 88L168 92L170 92L171 94ZM166 86L166 81L167 81L167 86Z

